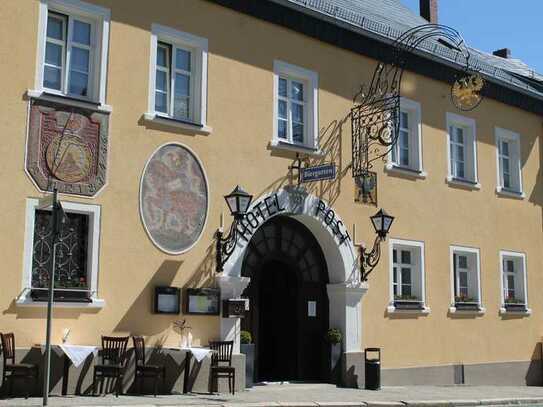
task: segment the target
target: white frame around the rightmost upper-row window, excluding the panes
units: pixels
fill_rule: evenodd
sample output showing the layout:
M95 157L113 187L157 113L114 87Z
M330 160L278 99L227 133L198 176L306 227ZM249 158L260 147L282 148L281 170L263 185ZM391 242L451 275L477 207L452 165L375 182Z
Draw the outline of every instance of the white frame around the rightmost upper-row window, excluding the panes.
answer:
M512 196L516 198L525 198L524 190L522 187L522 162L521 162L521 143L520 143L520 134L515 133L511 130L502 129L496 127L494 129L495 139L496 139L496 174L497 174L497 183L496 183L496 192L501 195ZM500 154L500 144L502 141L507 141L510 143L509 149L509 161L511 168L511 182L512 188L505 188L503 185L503 170ZM512 147L512 148L511 148ZM513 179L514 177L514 179Z

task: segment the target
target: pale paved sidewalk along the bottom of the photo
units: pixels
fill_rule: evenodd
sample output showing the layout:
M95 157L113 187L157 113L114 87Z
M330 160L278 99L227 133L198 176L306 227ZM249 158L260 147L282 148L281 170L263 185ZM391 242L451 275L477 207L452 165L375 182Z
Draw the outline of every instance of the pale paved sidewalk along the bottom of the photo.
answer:
M51 406L362 406L449 407L504 404L543 406L543 387L525 386L405 386L380 391L339 389L328 384L273 384L236 393L168 396L56 397ZM0 400L0 406L41 406L41 398Z

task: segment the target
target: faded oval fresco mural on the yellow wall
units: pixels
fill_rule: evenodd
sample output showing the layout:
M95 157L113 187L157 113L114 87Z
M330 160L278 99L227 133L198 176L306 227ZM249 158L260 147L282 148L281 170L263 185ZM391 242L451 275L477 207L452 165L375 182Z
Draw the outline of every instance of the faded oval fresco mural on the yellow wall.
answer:
M153 243L170 254L189 250L202 234L207 208L207 181L196 156L180 144L159 147L140 189L141 217Z

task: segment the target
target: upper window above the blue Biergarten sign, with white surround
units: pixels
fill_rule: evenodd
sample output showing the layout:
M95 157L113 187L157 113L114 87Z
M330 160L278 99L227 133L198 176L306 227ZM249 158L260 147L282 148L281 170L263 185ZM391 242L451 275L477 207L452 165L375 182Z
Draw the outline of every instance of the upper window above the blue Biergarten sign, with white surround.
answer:
M317 149L317 91L315 72L275 61L273 145Z

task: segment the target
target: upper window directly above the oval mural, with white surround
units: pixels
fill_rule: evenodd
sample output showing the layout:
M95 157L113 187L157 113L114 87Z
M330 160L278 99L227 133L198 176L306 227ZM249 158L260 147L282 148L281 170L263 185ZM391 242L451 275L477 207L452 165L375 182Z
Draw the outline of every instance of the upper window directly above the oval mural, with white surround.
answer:
M148 119L204 127L207 106L205 38L153 24Z

